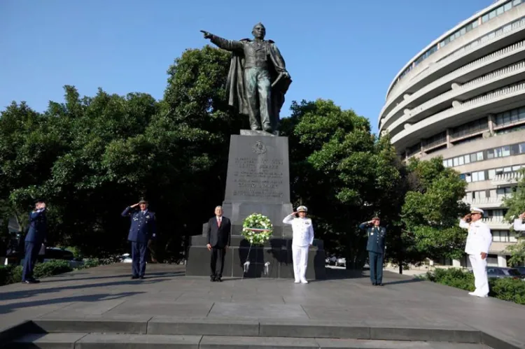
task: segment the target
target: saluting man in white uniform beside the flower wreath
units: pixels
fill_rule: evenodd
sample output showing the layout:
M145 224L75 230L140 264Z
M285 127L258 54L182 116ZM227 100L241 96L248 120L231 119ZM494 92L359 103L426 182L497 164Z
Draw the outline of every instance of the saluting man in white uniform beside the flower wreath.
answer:
M314 243L314 227L311 225L311 219L306 218L307 211L305 206L299 206L297 212L283 219L283 223L292 225L293 230L292 257L295 283L308 283L306 279L308 249ZM295 218L297 213L299 218Z

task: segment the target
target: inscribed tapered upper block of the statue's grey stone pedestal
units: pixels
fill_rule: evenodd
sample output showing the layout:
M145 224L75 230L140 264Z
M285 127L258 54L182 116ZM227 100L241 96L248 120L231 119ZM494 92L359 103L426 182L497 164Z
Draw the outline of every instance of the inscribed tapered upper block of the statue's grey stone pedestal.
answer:
M241 234L248 215L260 213L272 221L274 236L292 236L290 225L283 225L293 212L288 137L231 136L223 210L233 235Z

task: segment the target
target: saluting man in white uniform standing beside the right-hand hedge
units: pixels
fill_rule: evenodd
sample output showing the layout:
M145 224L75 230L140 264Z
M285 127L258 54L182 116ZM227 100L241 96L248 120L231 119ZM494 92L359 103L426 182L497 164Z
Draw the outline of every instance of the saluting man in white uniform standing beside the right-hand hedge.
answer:
M476 290L469 292L471 296L487 297L489 295L489 279L486 277L486 256L492 243L491 229L481 221L483 210L471 208L470 214L465 215L459 227L468 229L465 252L468 254L472 272L474 273L474 285Z

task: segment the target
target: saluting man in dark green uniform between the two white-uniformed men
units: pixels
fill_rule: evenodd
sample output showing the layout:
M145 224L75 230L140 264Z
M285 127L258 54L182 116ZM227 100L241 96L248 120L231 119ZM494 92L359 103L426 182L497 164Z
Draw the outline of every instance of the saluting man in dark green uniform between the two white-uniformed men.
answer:
M383 260L384 260L384 239L386 229L381 227L379 217L374 217L369 222L359 225L359 229L366 230L368 241L366 250L368 251L370 264L370 280L374 286L383 285Z

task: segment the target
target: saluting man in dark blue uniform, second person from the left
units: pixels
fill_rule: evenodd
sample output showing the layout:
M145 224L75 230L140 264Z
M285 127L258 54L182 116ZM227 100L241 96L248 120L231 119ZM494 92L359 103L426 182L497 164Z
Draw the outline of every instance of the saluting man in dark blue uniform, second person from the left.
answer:
M134 210L137 206L140 208L138 211ZM127 240L132 243L132 279L144 279L148 241L157 235L155 213L148 210L148 201L141 199L139 204L128 206L122 215L131 218L130 234Z

